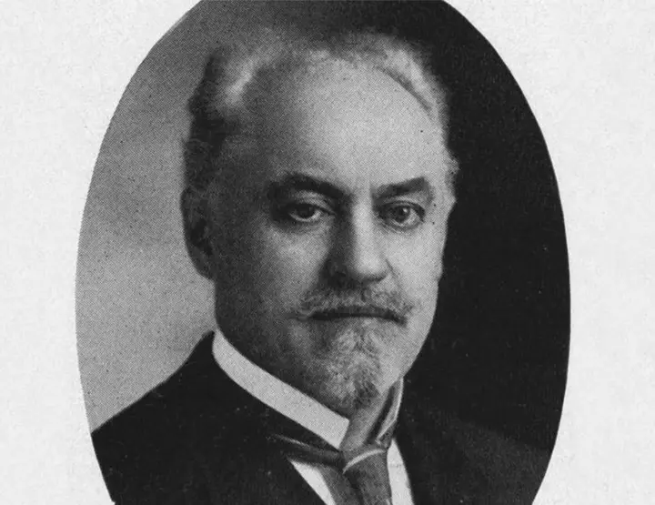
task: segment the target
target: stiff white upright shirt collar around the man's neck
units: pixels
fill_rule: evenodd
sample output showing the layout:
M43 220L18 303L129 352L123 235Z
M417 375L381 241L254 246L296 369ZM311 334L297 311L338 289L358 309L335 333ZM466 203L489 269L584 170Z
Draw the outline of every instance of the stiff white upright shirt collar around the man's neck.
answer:
M348 419L307 396L286 382L271 375L241 354L220 329L214 334L212 353L227 377L242 389L280 414L308 429L331 446L339 448L348 431ZM402 380L393 389L391 408L382 423L380 433L388 430L398 418L402 399Z

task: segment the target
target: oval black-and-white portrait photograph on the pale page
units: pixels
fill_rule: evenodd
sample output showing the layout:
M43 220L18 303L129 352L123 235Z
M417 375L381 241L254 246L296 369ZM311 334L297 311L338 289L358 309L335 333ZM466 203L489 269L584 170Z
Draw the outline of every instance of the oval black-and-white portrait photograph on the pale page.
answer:
M539 489L568 365L559 192L509 69L445 3L197 5L116 109L77 276L117 503Z

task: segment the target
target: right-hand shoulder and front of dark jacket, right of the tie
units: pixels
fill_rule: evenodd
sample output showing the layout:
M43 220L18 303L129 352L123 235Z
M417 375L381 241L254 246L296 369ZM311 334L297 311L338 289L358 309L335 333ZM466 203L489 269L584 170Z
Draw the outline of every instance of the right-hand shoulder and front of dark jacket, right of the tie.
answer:
M446 502L534 500L549 452L460 419L434 401L410 398L407 407L403 434L418 488Z

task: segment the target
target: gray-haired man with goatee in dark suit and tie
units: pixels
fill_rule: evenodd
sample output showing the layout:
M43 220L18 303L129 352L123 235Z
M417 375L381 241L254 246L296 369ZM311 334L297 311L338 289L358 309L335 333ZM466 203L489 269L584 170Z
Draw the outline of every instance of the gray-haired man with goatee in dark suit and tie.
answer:
M94 434L118 503L527 503L539 454L404 380L432 324L457 163L446 90L387 35L218 52L182 208L218 330Z

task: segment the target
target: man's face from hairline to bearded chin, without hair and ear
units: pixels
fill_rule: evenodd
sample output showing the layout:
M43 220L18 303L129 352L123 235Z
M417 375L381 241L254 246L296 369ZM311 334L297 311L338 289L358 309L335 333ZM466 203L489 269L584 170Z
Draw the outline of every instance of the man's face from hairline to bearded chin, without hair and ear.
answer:
M217 322L351 415L408 371L432 322L444 135L393 79L345 64L278 78L253 107L209 191Z

